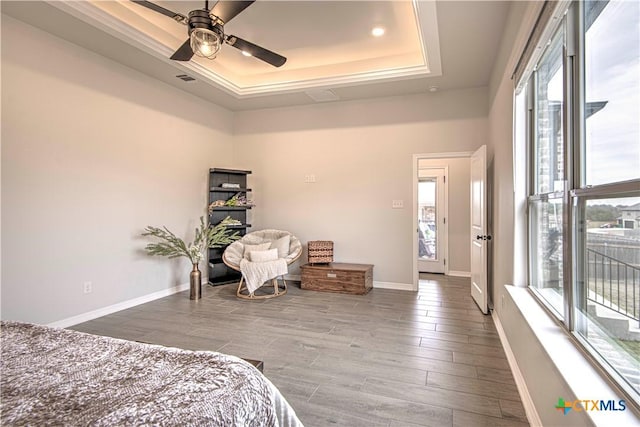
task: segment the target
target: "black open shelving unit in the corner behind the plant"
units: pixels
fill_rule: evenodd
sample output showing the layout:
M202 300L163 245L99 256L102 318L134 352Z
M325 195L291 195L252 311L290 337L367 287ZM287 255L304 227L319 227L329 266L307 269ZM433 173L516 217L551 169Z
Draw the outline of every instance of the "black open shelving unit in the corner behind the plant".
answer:
M209 169L209 203L216 200L229 200L237 193L251 192L251 189L247 187L247 175L251 174L251 171L238 170L238 169ZM238 188L223 188L222 184L237 184ZM251 227L251 224L247 223L247 210L251 209L251 206L221 206L211 210L209 215L209 224L218 224L227 216L232 219L240 221L241 225L229 226L229 229L238 231L241 236L247 233L247 229ZM209 284L212 286L223 285L226 283L233 283L240 280L240 273L227 267L222 262L222 254L225 247L222 248L209 248Z

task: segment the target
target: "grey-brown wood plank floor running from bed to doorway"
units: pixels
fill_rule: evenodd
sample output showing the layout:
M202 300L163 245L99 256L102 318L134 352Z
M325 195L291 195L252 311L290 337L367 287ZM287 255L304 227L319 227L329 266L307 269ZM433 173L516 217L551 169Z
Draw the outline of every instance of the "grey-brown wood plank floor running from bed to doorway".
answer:
M469 279L421 275L418 293L303 291L239 300L203 286L71 329L264 361L307 427L528 426L490 316Z

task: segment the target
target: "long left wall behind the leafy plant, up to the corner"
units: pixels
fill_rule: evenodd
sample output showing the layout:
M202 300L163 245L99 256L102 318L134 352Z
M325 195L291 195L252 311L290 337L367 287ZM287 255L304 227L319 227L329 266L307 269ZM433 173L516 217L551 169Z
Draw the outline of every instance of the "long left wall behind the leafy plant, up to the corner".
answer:
M2 15L2 318L49 323L188 282L139 234L193 238L231 132L230 112Z

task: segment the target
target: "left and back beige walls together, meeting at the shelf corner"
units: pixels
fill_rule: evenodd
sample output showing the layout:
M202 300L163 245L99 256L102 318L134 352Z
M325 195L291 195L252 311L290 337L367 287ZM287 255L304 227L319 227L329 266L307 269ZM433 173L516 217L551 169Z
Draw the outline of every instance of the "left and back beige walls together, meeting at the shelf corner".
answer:
M487 142L486 88L234 116L6 15L2 68L5 319L51 323L186 283L186 261L147 257L139 234L190 239L212 166L254 171L254 229L334 240L337 260L410 285L412 155Z

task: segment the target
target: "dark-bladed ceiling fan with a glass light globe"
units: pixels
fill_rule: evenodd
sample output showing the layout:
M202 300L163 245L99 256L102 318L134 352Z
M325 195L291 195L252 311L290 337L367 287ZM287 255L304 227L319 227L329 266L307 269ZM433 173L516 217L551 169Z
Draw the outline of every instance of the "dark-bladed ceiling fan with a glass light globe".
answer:
M189 38L171 55L173 60L189 61L194 54L203 58L214 59L222 44L226 43L241 50L245 55L255 56L274 67L280 67L287 61L287 58L282 55L278 55L240 37L224 33L224 24L251 6L255 0L219 0L211 9L209 9L209 1L206 0L203 9L192 10L189 12L188 17L181 13L172 12L150 1L131 1L189 27Z

